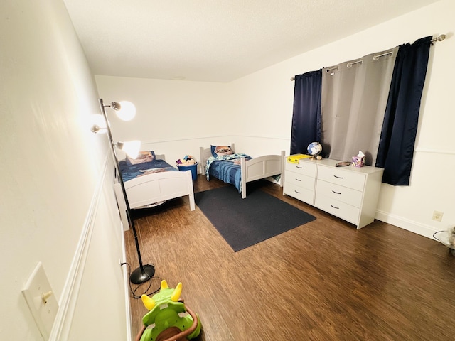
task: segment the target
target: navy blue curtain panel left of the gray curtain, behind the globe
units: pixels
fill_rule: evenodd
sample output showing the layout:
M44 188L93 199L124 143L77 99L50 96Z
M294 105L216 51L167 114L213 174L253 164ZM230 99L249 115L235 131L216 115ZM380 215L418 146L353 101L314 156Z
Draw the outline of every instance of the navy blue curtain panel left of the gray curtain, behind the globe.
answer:
M322 70L297 75L294 80L291 154L306 154L306 147L321 141Z

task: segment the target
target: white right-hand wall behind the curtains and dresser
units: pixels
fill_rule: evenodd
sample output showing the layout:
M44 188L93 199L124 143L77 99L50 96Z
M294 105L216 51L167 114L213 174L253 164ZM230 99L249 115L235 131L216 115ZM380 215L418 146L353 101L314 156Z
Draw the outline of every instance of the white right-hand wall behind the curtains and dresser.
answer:
M455 1L438 1L232 82L233 111L250 121L240 134L290 136L294 75L446 33L449 38L431 48L410 186L382 184L377 218L427 237L455 225L454 16ZM258 119L264 113L269 121ZM442 222L432 220L434 210L444 212Z

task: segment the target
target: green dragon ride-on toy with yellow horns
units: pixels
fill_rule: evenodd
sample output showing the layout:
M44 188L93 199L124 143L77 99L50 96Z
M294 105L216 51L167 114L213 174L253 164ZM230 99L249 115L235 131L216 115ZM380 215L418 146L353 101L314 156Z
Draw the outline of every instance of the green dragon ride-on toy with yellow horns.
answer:
M142 318L144 326L136 341L183 341L198 337L199 317L183 303L181 293L182 283L174 289L163 280L159 293L151 298L141 296L142 303L150 311Z

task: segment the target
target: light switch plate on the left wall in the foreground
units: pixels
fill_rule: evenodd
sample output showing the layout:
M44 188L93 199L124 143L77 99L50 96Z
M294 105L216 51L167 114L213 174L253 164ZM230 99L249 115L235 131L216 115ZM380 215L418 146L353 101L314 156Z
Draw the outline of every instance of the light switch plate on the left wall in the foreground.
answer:
M57 315L58 302L41 262L28 278L22 294L43 339L48 340Z

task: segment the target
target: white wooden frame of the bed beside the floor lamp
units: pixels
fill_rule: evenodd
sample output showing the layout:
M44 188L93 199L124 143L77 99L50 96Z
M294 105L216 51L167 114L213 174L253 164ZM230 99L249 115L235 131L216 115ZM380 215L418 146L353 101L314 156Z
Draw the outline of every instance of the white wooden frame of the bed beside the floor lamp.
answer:
M156 154L157 160L166 161L164 155ZM122 161L122 160L120 160ZM129 208L140 209L160 205L166 200L188 195L190 210L196 209L193 192L193 176L191 171L167 171L150 173L137 178L124 181L125 192L127 193ZM117 205L122 216L124 229L129 224L124 212L127 205L123 199L122 185L119 183L118 175L114 179L114 191L117 197Z

